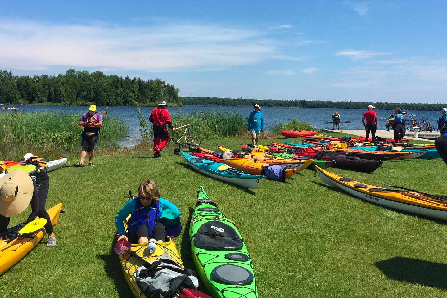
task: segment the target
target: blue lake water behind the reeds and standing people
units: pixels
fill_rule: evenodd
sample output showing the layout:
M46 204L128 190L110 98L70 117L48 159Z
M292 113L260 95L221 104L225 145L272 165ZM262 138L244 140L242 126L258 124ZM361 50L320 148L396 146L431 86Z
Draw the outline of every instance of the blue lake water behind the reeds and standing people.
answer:
M7 105L7 107L12 107L12 105ZM55 106L55 105L23 105L18 106L21 108L19 113L27 112L55 112L55 113L76 113L81 115L88 111L88 106ZM101 111L104 107L98 107L98 111ZM149 115L153 107L142 107L140 108L144 117L149 118ZM237 112L247 115L253 111L252 107L243 106L210 106L210 105L184 105L180 108L168 107L171 115L177 113L181 110L181 113L213 113L215 111L221 112ZM336 110L341 115L342 122L350 120L352 123L341 123L342 130L356 130L363 129L362 115L366 109L337 109ZM7 113L10 110L0 109L0 113ZM106 116L113 115L115 117L120 117L125 119L128 126L128 134L126 137L118 139L118 144L120 145L133 145L139 141L140 131L139 131L139 121L137 116L136 107L113 107L110 106L107 109L108 114ZM301 121L306 121L312 123L317 128L332 128L332 114L334 109L316 109L316 108L281 108L281 107L261 107L261 112L264 114L264 119L266 122L266 129L269 130L275 123L287 122L290 119L298 118ZM375 110L377 113L377 118L388 118L392 114L393 110ZM428 118L430 122L434 123L435 129L437 128L436 120L441 117L441 112L438 111L405 111L409 114L413 113L417 116L414 117L415 120L419 121L421 117ZM63 121L63 119L61 119ZM105 118L106 121L106 118ZM324 124L323 122L329 121L331 123ZM175 126L181 126L186 123L173 123ZM379 129L384 129L385 120L379 119ZM194 128L191 127L194 132Z

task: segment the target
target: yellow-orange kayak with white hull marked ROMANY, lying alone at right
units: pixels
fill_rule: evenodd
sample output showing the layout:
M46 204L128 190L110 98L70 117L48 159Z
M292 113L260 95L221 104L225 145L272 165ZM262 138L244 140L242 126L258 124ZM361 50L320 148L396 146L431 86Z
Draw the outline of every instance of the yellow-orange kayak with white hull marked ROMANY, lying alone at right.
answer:
M374 185L364 184L350 178L316 168L321 181L327 185L379 204L388 208L447 220L447 201L441 201L430 195L424 195L407 190L384 189ZM447 200L447 198L446 198Z

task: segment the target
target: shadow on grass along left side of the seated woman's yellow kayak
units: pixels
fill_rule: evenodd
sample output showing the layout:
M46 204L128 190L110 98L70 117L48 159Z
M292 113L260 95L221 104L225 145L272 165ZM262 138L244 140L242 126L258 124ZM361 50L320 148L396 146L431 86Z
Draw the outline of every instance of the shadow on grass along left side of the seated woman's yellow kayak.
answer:
M118 296L120 298L133 297L131 289L129 289L127 282L124 280L124 274L122 273L119 257L114 251L116 241L117 236L115 235L112 243L110 244L109 253L107 255L96 255L96 257L105 261L104 271L108 277L113 279Z

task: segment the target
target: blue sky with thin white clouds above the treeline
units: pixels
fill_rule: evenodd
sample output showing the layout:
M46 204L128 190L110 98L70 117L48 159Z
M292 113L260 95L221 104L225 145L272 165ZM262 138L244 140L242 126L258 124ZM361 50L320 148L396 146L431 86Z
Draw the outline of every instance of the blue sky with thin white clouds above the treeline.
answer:
M8 1L0 69L157 77L181 96L443 103L446 11L443 0Z

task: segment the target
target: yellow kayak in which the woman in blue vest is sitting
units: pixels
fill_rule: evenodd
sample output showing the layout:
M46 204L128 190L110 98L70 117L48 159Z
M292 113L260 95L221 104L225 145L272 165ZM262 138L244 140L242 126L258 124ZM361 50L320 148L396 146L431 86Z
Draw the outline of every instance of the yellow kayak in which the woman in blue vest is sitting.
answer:
M127 220L129 218L130 215L124 221L124 228L126 229L126 231L127 231ZM163 252L167 252L169 256L173 258L173 260L175 260L178 264L180 264L183 267L180 255L177 252L177 248L175 247L175 243L172 238L169 239L169 242L157 242L155 252L152 253L152 255L149 255L147 242L132 244L131 249L138 256L141 256L147 262L159 259L159 257L163 254ZM124 278L126 279L127 284L131 288L131 291L134 294L134 296L137 298L146 298L146 295L144 295L141 292L134 278L135 271L143 265L143 261L131 257L131 255L128 253L119 255L119 261L121 263L122 272L124 273ZM179 294L177 294L177 297L178 295Z

